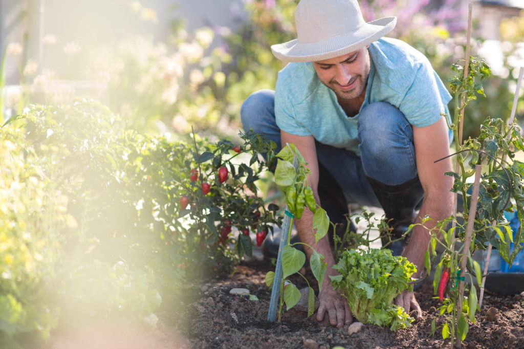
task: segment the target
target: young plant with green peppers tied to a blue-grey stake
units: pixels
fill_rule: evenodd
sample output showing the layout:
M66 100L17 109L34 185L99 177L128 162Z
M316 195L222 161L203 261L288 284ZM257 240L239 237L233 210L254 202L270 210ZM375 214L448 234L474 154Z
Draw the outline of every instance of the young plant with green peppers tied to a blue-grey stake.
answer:
M300 152L294 145L288 145L277 154L278 162L275 169L275 182L286 192L286 212L285 214L290 219L289 231L282 234L288 234L287 244L283 247L281 252L282 263L282 282L280 282L280 305L278 311L278 321L280 322L283 303L286 303L287 310L293 308L298 301L300 301L299 289L288 279L293 274L299 274L307 283L309 287L308 296L308 317L314 312L314 291L309 281L300 274L299 270L305 263L305 255L302 251L294 247L302 244L308 246L313 250L310 256L310 266L314 277L318 281L319 290L322 289L322 282L324 280L327 264L324 262L324 256L316 252L310 245L298 242L291 244L291 228L293 220L300 219L305 206L313 213L313 231L315 242L318 242L328 232L329 217L324 209L316 204L313 197L313 191L308 185L307 175L309 169ZM297 169L293 166L293 158L298 161ZM276 273L269 271L266 275L266 284L271 287L274 283ZM282 296L283 295L283 296Z

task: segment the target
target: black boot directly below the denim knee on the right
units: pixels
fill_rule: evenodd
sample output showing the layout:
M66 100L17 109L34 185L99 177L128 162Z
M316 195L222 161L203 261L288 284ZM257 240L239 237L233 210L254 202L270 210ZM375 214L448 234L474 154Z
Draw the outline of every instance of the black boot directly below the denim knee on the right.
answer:
M417 177L398 186L388 186L370 177L367 180L391 228L389 232L380 232L382 245L391 249L392 254L400 255L407 245L408 227L417 217L417 210L424 198L420 180Z

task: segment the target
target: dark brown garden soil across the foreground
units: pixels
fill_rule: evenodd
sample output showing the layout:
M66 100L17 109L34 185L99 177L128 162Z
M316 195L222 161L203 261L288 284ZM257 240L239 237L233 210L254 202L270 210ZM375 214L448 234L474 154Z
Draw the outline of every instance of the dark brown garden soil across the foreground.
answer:
M349 325L340 329L316 313L290 310L280 323L267 322L270 290L264 278L273 268L261 261L244 262L233 275L219 276L193 287L193 299L175 312L160 316L163 329L176 328L184 338L183 346L194 348L441 348L450 341L442 340L438 330L430 335L431 322L437 314L439 300L433 299L431 282L416 291L423 319L409 329L396 333L375 325L363 325L361 331L348 334ZM300 280L294 280L303 287ZM230 294L233 288L247 288L259 300ZM316 291L315 291L316 292ZM414 313L413 313L414 314ZM441 324L440 317L436 320ZM179 343L182 345L181 343ZM498 296L486 291L476 323L470 323L464 348L524 348L524 300L520 295Z

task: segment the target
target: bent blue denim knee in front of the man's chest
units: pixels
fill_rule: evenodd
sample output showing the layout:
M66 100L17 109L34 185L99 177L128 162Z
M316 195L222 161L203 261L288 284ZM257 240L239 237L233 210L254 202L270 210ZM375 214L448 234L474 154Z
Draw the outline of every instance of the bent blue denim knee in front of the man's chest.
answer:
M358 116L358 137L368 177L391 186L417 177L413 128L398 108L368 104Z

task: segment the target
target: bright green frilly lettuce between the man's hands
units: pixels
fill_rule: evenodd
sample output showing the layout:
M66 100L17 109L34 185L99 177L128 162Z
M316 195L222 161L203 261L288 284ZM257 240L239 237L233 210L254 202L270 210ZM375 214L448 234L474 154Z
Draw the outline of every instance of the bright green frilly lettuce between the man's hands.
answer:
M411 326L414 319L392 304L417 271L406 257L394 257L388 249L346 250L333 268L339 275L330 276L331 283L342 291L358 321L391 331Z

